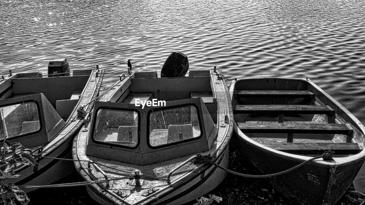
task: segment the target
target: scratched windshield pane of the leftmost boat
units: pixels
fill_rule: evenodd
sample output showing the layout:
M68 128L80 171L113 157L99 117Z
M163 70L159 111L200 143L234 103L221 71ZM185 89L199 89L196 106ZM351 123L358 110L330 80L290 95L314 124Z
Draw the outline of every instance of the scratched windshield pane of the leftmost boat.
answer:
M37 132L41 129L38 105L35 102L0 107L0 139L14 138Z

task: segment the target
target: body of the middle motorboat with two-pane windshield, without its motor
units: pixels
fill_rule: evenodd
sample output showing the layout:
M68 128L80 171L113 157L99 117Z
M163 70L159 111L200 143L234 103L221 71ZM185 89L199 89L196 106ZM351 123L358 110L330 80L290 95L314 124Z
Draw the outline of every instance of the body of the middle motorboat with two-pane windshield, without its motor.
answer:
M113 110L110 111L111 113L118 109L136 110L137 113L140 113L139 120L141 121L141 123L137 123L141 130L138 148L135 150L128 148L127 150L122 146L110 147L108 145L106 147L99 141L93 141L95 132L90 131L95 130L94 127L100 122L98 118L94 118L91 120L88 132L80 132L73 143L73 158L82 160L82 162L75 161L75 167L84 181L94 181L101 179L101 177L105 179L110 177L124 178L128 175L123 170L140 170L141 178L144 181L138 186L134 185L133 182L130 183L127 178L112 180L108 184L89 185L87 187L88 194L100 204L172 205L195 200L214 189L227 175L225 171L216 166L204 164L204 160L201 163L191 161L193 158L201 160L199 155L211 156L212 162L228 167L228 143L233 133L233 114L227 86L222 79L218 79L216 75L211 75L212 72L209 70L190 71L189 78L144 78L135 76L138 73L131 73L127 78L120 79L121 82L116 84L120 88L106 93L99 102L96 102L92 115L97 117L97 112L104 108ZM126 93L124 90L127 90ZM192 92L192 90L199 92ZM177 93L178 95L176 95ZM184 108L185 104L195 107L198 115L191 115L190 110L190 114L186 115L186 120L180 119L180 117L176 118L176 115L171 119L176 118L176 120L184 121L183 124L193 126L200 124L201 134L199 138L183 141L183 136L181 136L182 138L174 143L161 144L160 147L151 146L152 135L148 132L150 129L149 120L151 119L149 115L154 110L136 108L133 100L130 101L130 99L137 98L138 95L142 97L156 95L159 100L166 100L166 105L163 106L166 107L166 110L170 109L169 107L171 109ZM153 109L164 110L163 107ZM151 112L149 112L150 110ZM185 116L185 114L181 116ZM136 119L134 118L134 120ZM158 118L156 119L158 120ZM170 118L165 117L164 124L165 119L169 120ZM193 123L194 121L191 120L198 121ZM132 121L132 123L136 124L136 121ZM176 121L168 126L180 124ZM165 134L168 136L167 126L164 125L164 127L165 129L161 128L161 130L166 130L167 133ZM198 130L196 129L196 131ZM183 131L181 130L181 132ZM116 132L111 133L111 135L114 133L117 135ZM161 132L159 135L166 136L165 134ZM89 163L86 163L87 161ZM98 162L97 165L94 163L96 161ZM91 166L92 163L93 166ZM118 167L117 171L116 167ZM132 177L135 176L133 173L131 175ZM150 178L150 176L154 178Z

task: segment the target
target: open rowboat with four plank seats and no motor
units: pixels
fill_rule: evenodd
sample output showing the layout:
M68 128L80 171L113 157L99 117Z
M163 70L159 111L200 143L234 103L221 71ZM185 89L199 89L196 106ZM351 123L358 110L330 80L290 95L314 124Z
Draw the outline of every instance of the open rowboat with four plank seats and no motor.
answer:
M240 148L258 174L296 204L333 205L364 163L364 125L310 80L243 78L230 87L234 130Z

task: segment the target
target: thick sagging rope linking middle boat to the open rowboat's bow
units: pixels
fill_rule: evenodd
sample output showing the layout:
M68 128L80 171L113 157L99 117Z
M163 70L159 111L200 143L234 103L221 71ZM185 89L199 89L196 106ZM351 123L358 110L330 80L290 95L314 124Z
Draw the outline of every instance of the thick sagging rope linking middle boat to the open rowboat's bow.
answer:
M314 158L310 158L308 160L305 160L304 162L300 163L299 165L295 166L295 167L292 167L288 170L285 170L285 171L281 171L281 172L278 172L278 173L274 173L274 174L266 174L266 175L251 175L251 174L242 174L242 173L238 173L238 172L235 172L235 171L232 171L232 170L229 170L229 169L226 169L220 165L218 165L217 163L214 163L211 161L212 157L210 155L200 155L198 154L198 157L195 158L193 160L193 163L205 163L205 164L211 164L211 165L214 165L216 167L218 167L219 169L222 169L224 171L227 171L228 173L230 174L234 174L234 175L238 175L238 176L241 176L241 177L249 177L249 178L267 178L267 177L275 177L275 176L278 176L278 175L282 175L282 174L286 174L288 172L291 172L293 170L296 170L298 169L299 167L305 165L306 163L310 162L310 161L313 161L315 159L319 159L319 158L323 158L323 160L331 160L332 159L332 156L333 154L331 152L329 153L323 153L322 156L316 156ZM194 162L195 161L195 162Z

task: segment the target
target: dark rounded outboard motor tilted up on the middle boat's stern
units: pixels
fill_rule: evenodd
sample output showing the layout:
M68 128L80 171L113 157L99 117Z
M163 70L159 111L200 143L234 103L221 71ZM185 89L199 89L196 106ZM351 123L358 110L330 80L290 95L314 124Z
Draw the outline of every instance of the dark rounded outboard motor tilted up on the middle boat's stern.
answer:
M161 78L184 77L189 69L188 57L178 51L172 52L161 69Z

